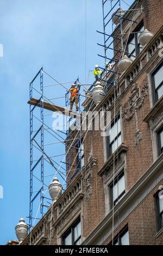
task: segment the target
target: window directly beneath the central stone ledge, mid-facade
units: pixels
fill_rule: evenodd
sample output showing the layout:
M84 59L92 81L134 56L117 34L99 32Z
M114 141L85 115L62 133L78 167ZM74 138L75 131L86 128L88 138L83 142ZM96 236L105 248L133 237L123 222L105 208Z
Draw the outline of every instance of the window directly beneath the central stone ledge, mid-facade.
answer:
M114 181L109 185L109 194L110 194L110 205L116 205L118 200L120 200L125 194L125 179L124 171L117 175Z

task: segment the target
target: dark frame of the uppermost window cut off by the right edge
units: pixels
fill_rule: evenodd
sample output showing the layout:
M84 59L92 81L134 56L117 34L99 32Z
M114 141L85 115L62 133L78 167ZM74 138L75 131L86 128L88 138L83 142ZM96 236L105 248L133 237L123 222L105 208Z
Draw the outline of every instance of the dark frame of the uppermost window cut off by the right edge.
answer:
M161 60L161 62L159 63L158 66L155 67L155 69L152 71L151 74L151 81L152 81L152 98L153 98L153 104L155 104L159 98L158 98L158 94L156 93L156 91L163 86L163 80L162 82L159 84L159 86L157 87L157 89L155 88L155 81L154 81L154 76L155 74L159 71L159 69L161 68L161 66L163 65L163 61Z

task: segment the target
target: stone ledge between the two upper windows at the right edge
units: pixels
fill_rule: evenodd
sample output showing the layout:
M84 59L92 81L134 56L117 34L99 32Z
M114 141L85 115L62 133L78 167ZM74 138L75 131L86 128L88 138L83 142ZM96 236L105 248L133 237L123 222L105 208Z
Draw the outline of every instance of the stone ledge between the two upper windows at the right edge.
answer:
M159 101L151 108L149 113L143 119L145 123L148 123L150 119L154 119L158 113L160 113L163 109L163 96L160 97Z

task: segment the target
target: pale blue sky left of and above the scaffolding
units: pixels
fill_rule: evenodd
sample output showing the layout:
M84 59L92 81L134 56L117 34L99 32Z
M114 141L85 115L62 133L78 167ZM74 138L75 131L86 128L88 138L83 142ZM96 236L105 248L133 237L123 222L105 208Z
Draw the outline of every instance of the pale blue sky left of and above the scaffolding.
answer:
M97 46L97 42L103 44L103 36L96 32L102 31L102 1L87 0L86 10L85 52L85 0L0 0L0 44L4 47L0 58L1 245L16 239L15 225L21 217L28 223L29 82L42 65L59 82L79 76L82 83L95 64L104 66L97 56L103 55L103 48ZM93 82L92 74L89 82ZM52 97L65 94L60 86L51 92Z

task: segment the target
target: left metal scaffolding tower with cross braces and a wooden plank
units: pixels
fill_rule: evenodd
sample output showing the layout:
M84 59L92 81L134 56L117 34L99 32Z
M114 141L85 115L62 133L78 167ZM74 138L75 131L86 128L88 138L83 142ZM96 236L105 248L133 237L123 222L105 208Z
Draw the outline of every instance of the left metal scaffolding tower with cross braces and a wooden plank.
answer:
M57 82L57 84L47 85L48 82L43 83L45 76L50 80L53 78L49 76L47 72L43 71L42 67L39 72L37 72L32 82L30 82L30 99L28 101L30 104L30 200L28 216L30 229L33 227L36 220L40 220L40 218L43 217L49 205L52 203L52 199L49 196L45 197L45 191L47 191L48 185L51 182L51 176L59 175L60 181L65 180L66 173L69 172L71 167L70 150L68 149L71 147L79 149L80 146L77 148L77 145L81 145L81 131L79 131L78 138L71 145L70 127L74 122L74 113L76 112L72 111L71 116L68 113L70 91L66 89L65 96L56 97L57 95L53 95L55 97L52 98L52 93L55 94L56 92L52 90L52 87L57 85L62 86L62 84ZM72 81L66 83L72 83ZM80 89L81 84L79 83L79 78L74 83ZM47 92L46 94L44 93L44 88L50 90L49 96ZM52 101L61 101L62 98L65 98L66 107L58 106ZM79 99L78 102L78 114L80 115L81 106ZM62 101L62 104L65 103ZM62 130L55 129L55 126L45 121L45 118L48 117L52 121L53 113L49 113L49 111L53 113L57 112L57 114L64 116L61 125ZM58 125L57 128L59 129ZM49 141L49 139L52 138L55 138L55 141ZM63 146L60 154L58 154L58 148L56 148L58 144ZM48 147L52 146L54 146L55 149L49 150ZM57 152L57 154L54 155L54 152ZM55 161L54 158L57 160ZM52 173L51 168L53 168L54 173ZM77 175L80 169L81 167L77 167L74 175ZM66 189L68 182L70 181L67 180L63 190Z

